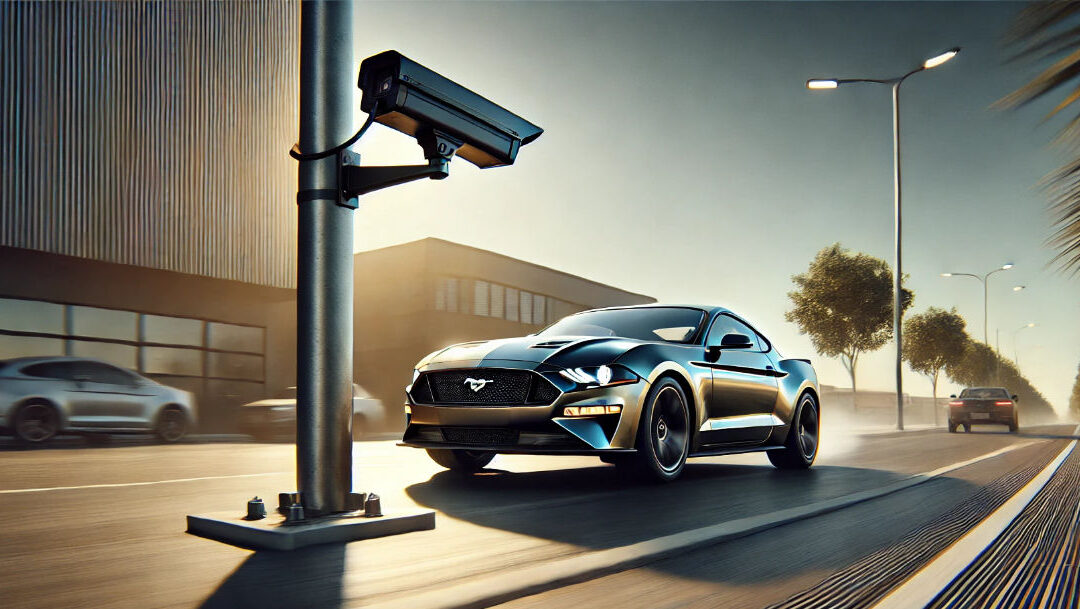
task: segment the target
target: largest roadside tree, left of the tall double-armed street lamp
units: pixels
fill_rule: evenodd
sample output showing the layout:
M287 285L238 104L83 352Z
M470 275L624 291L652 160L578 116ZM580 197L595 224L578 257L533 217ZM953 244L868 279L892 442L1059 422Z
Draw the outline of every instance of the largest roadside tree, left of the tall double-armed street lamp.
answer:
M854 400L859 356L892 338L892 270L880 258L851 253L839 243L822 248L807 272L792 278L787 293L794 307L784 314L810 336L819 353L839 357L851 375ZM901 295L901 311L912 306L909 289Z

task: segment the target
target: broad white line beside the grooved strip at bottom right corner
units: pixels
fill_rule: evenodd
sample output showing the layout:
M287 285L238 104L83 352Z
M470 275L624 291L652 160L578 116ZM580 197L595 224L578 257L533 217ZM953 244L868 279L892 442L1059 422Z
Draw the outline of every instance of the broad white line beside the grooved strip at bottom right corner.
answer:
M1080 427L1074 434L1080 432ZM1001 533L1012 524L1021 512L1027 508L1035 496L1047 486L1047 483L1054 476L1065 459L1076 448L1077 441L1072 441L1043 468L1038 475L1031 478L1024 488L1004 502L993 514L986 517L977 527L957 540L947 550L942 552L932 561L928 563L918 572L907 579L906 582L893 590L873 609L910 609L913 607L926 607L949 583L960 576L983 552L990 546L1001 536Z

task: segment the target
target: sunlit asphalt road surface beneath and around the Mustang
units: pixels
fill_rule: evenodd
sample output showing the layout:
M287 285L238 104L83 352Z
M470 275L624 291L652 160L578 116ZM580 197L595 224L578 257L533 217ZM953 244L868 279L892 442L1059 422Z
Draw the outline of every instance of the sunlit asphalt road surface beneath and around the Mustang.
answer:
M355 489L378 492L384 511L436 510L436 529L293 553L254 553L184 532L187 514L241 512L253 495L291 490L291 445L5 449L0 605L410 606L418 591L845 497L1017 446L837 512L505 604L796 606L800 594L827 597L829 578L867 560L892 565L876 572L900 581L936 546L919 556L913 550L928 540L950 543L941 523L963 510L981 518L995 505L990 491L1003 500L1012 492L1007 483L1029 479L1072 437L1071 425L1015 435L826 430L810 472L777 471L761 455L710 458L691 461L681 481L665 486L629 485L596 459L573 457L502 456L462 479L422 451L363 442L354 445Z

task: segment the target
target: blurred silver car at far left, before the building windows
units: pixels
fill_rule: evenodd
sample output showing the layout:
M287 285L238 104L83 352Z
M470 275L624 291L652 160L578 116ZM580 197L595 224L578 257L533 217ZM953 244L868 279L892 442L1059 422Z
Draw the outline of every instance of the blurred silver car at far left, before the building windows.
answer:
M163 442L195 422L190 392L84 357L0 361L0 425L27 443L63 432L147 432Z

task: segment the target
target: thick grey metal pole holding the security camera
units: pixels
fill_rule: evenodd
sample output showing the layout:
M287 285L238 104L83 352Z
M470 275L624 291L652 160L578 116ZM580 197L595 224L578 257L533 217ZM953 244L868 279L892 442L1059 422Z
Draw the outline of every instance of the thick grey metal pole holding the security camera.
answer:
M352 2L300 6L300 150L355 128ZM301 161L297 227L296 477L310 516L345 512L352 490L352 211L338 205L338 159Z

